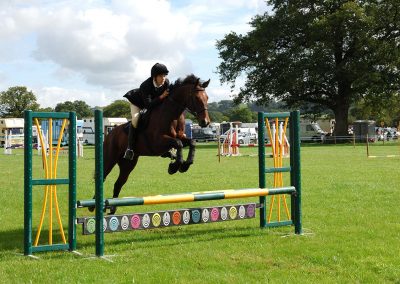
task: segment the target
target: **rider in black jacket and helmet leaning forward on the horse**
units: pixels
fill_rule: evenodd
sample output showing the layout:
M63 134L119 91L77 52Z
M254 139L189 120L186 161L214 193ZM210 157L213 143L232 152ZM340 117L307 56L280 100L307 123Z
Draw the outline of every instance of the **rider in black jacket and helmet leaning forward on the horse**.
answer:
M169 80L167 79L168 69L164 64L156 63L151 68L151 76L144 81L139 88L139 93L134 90L128 92L127 97L131 102L132 121L129 127L128 148L124 158L132 160L134 157L133 149L136 142L136 129L141 109L151 110L160 105L168 96Z

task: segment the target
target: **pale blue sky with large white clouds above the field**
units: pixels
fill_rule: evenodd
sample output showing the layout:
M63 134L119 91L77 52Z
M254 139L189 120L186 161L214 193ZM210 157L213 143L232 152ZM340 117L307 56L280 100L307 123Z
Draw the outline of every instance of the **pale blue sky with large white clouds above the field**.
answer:
M170 81L211 79L209 102L231 99L216 41L266 11L264 0L0 0L0 91L26 86L41 107L106 106L160 62Z

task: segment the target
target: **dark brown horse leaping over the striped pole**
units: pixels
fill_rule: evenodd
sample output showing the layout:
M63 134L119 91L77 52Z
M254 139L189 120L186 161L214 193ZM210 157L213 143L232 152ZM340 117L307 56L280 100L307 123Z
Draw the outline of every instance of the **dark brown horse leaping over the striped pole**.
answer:
M191 74L170 86L169 96L160 106L151 111L147 126L136 134L133 160L123 158L128 146L126 129L130 122L115 127L105 136L104 180L116 164L119 167L119 175L114 183L113 198L118 198L140 156L162 156L175 160L168 166L169 174L175 174L177 171L183 173L189 169L194 161L196 142L185 135L184 111L192 113L201 127L206 127L210 123L207 109L208 95L205 91L209 83L210 80L201 82L200 78ZM189 146L189 151L184 160L182 148L186 146ZM175 155L171 154L172 149L176 149ZM116 209L116 207L110 207L110 214L115 214ZM94 207L90 207L89 210L93 211Z

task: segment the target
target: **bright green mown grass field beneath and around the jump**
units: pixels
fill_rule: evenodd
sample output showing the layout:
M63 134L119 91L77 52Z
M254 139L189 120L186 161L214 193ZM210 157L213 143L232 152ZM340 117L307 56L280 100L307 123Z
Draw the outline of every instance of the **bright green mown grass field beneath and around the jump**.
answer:
M83 256L68 252L40 253L39 260L22 256L23 153L13 153L0 154L0 283L400 283L399 157L367 158L365 146L306 145L301 152L304 235L294 235L293 227L259 229L257 218L106 234L105 254L115 255L110 263L90 258L94 236L80 235L79 227L78 251ZM242 153L255 154L256 149ZM94 192L93 149L86 148L84 154L78 160L78 199ZM371 155L391 154L400 154L398 144L371 149ZM223 158L219 164L214 147L199 147L196 155L188 173L174 176L166 172L168 160L141 158L121 196L258 186L256 156ZM58 176L63 177L66 159L60 158L59 164ZM34 166L35 175L41 176L36 155ZM116 175L114 170L105 182L106 196L112 194ZM37 226L43 190L34 191ZM66 194L65 187L58 188L60 200ZM60 207L65 210L64 201ZM88 212L78 210L78 215ZM42 243L47 241L45 226Z

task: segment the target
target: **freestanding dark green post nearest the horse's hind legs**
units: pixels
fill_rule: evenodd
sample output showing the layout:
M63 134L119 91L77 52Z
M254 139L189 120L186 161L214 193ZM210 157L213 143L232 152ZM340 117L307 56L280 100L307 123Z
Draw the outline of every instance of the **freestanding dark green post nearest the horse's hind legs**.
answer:
M96 156L96 256L104 255L104 197L103 197L103 113L95 110L95 156Z

